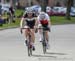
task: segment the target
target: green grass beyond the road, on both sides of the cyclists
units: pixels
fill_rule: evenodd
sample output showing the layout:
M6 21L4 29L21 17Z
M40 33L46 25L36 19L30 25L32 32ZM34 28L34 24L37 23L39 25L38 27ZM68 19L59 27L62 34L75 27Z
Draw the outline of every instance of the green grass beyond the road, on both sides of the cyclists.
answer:
M23 12L23 11L22 11ZM19 15L20 12L17 11ZM11 23L11 24L3 24L3 26L0 26L0 29L4 29L4 28L12 28L12 27L19 27L20 24L20 18L16 19L15 23ZM71 17L71 20L66 20L66 18L64 16L51 16L51 24L52 25L60 25L60 24L75 24L75 17Z

